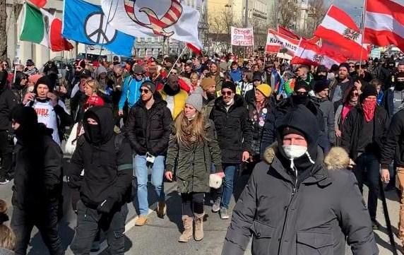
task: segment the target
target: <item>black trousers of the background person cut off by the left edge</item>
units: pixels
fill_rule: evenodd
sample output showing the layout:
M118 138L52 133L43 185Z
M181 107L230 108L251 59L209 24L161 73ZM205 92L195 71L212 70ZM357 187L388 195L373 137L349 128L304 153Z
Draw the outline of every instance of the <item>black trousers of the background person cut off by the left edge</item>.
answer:
M0 131L0 157L1 170L0 177L11 177L11 162L13 160L13 141L8 136L8 131Z

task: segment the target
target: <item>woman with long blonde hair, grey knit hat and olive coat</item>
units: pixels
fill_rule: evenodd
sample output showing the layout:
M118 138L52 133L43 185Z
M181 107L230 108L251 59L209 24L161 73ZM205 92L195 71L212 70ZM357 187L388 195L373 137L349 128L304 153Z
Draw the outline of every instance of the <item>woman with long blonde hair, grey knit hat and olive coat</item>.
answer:
M177 162L176 177L182 198L182 222L184 232L179 242L203 239L203 204L205 193L210 191L210 169L215 165L218 177L224 177L215 125L206 118L202 95L191 94L184 110L174 121L167 150L165 177L172 180L173 167Z

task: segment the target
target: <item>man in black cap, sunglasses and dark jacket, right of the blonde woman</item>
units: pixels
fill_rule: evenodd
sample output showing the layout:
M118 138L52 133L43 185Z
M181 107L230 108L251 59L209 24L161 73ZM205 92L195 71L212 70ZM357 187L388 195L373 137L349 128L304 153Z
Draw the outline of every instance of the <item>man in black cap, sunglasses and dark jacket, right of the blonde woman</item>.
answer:
M236 86L231 81L222 83L222 96L215 100L210 112L218 133L222 151L222 169L225 172L223 193L220 202L220 218L228 219L227 209L233 194L233 183L241 162L250 158L252 143L252 124L246 102L241 95L236 95ZM252 153L251 153L252 154ZM215 203L220 200L215 199ZM214 205L213 212L218 212Z

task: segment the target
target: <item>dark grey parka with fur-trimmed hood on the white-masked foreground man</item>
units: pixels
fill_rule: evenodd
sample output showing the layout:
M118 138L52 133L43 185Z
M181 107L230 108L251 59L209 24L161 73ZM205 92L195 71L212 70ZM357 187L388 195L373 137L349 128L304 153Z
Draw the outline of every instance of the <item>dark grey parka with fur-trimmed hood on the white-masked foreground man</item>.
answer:
M256 165L234 207L222 255L244 254L251 235L254 255L343 255L345 237L354 255L379 254L355 176L344 169L349 158L336 149L326 165L319 151L311 174L297 188L269 148L267 162Z

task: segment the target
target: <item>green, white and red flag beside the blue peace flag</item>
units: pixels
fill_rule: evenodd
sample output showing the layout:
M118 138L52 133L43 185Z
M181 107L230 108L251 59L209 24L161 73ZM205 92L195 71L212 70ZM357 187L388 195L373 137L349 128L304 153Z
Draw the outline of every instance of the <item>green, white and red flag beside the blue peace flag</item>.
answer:
M73 49L73 45L61 37L61 20L42 8L25 3L20 40L35 42L52 50Z

